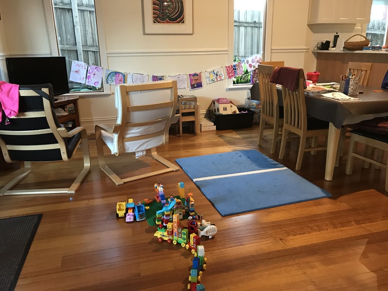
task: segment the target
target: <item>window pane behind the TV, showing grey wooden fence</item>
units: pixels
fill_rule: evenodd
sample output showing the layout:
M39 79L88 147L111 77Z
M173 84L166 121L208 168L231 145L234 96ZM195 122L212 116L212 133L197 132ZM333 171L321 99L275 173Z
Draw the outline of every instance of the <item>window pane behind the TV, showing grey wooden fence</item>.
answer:
M48 3L48 1L50 3ZM97 34L97 17L95 2L99 0L46 0L45 8L52 9L50 22L54 22L55 31L52 31L52 51L59 56L66 57L67 75L73 61L80 61L87 65L101 65L100 48ZM48 13L47 13L48 14ZM49 19L50 18L50 19ZM101 87L93 87L69 81L70 92L103 91ZM109 91L109 90L108 90Z

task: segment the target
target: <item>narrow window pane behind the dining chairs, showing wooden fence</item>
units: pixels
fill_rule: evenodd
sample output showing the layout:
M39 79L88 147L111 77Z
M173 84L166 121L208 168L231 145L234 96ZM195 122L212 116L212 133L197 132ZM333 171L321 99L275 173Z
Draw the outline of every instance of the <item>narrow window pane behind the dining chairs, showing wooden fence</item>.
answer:
M244 74L233 78L233 85L251 84L252 70L244 61L253 55L263 58L265 7L266 0L234 1L233 62L242 61Z

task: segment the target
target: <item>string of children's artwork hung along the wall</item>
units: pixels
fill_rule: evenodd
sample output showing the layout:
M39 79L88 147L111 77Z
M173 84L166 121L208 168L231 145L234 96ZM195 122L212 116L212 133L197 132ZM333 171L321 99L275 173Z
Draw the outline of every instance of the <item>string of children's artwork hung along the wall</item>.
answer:
M177 75L148 75L142 73L126 73L117 70L105 69L97 65L87 65L80 61L72 61L69 81L100 87L105 84L118 85L124 83L144 83L149 81L176 80L178 89L190 88L190 90L202 89L202 74L206 84L212 84L226 79L233 79L244 73L243 64L248 72L251 72L261 63L258 54L226 66L218 66L210 70ZM226 73L225 73L226 72Z

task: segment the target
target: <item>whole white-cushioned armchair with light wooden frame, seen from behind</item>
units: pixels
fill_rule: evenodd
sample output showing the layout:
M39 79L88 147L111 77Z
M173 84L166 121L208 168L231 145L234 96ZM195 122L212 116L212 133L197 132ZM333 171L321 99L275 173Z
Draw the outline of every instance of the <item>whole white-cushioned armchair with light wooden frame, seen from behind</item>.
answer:
M139 84L119 84L116 87L115 107L117 121L113 128L96 125L97 156L100 168L116 185L178 171L179 167L161 157L156 148L168 143L169 128L178 108L177 81L165 80ZM112 155L134 153L136 163L145 168L145 173L120 178L106 164L103 146L109 147ZM165 167L155 170L153 163L141 161L150 152L151 157ZM140 160L139 162L137 162ZM134 174L134 175L132 175Z

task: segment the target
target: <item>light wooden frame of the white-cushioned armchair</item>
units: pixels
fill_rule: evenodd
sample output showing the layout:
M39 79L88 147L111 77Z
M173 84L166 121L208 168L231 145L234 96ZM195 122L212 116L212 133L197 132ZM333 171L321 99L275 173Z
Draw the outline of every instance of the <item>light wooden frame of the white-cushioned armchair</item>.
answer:
M144 98L144 101L145 101L144 104L141 104L141 105L132 104L131 97L130 97L131 93L150 91L150 92L154 92L155 94L158 94L158 90L160 89L170 90L169 100L162 101L162 102L155 102L153 98L150 97L149 99ZM112 135L114 137L113 139L117 140L117 151L114 153L116 156L122 155L124 153L133 152L125 149L126 148L125 143L128 143L128 142L136 142L140 140L152 139L158 136L159 137L162 136L162 139L163 139L162 144L167 143L168 131L175 118L175 114L178 107L177 81L167 80L167 81L158 81L158 82L142 83L142 84L120 84L116 88L115 95L116 95L115 96L116 107L119 113L117 118L117 123L113 126L113 128L109 128L105 125L96 125L95 127L97 155L98 155L98 162L101 170L105 174L107 174L108 177L111 178L116 185L121 185L123 183L134 181L137 179L151 177L151 176L179 170L179 167L177 165L167 161L157 153L157 150L156 150L157 146L152 146L151 148L145 148L144 150L150 150L152 158L161 162L167 168L158 170L158 171L152 171L141 175L135 175L128 178L120 178L106 164L104 150L103 150L103 146L106 143L102 138L102 132L105 131L106 133ZM133 120L134 118L132 115L135 115L134 113L155 111L158 109L169 109L168 114L165 114L165 116L161 118L150 117L144 121ZM146 133L142 135L126 136L127 129L130 130L133 128L147 127L147 126L152 126L160 123L164 123L164 127L162 130L152 131L150 133Z

